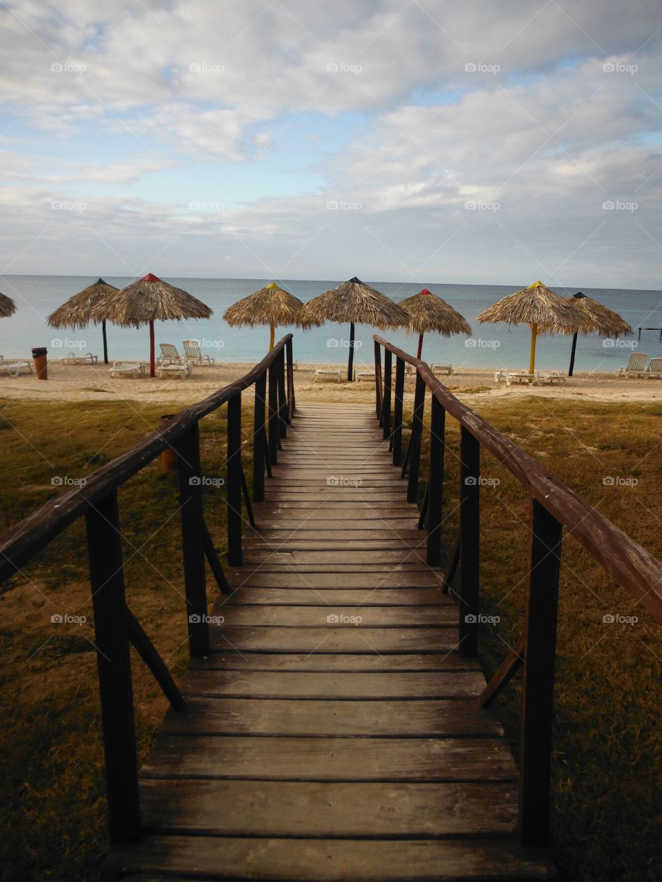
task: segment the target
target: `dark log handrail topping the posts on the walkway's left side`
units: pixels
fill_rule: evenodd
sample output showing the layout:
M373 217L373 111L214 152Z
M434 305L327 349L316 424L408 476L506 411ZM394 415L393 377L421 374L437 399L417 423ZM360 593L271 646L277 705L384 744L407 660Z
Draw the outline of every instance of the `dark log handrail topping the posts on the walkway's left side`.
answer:
M282 355L283 349L292 340L286 334L276 343L262 361L244 377L240 377L206 399L180 410L171 420L144 437L131 450L120 454L106 465L96 469L82 487L66 490L49 499L33 514L19 521L0 537L0 581L9 578L22 564L37 551L48 545L66 527L85 514L89 506L115 490L136 475L159 453L168 447L174 448L193 423L199 422L225 404L230 398L249 388ZM290 344L291 345L291 344Z

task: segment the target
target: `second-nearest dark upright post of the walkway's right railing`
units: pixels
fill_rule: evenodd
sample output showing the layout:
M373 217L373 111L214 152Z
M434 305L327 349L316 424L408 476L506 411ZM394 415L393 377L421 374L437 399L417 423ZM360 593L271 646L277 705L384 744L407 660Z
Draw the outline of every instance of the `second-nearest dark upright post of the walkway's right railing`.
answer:
M460 426L460 654L478 653L480 444Z

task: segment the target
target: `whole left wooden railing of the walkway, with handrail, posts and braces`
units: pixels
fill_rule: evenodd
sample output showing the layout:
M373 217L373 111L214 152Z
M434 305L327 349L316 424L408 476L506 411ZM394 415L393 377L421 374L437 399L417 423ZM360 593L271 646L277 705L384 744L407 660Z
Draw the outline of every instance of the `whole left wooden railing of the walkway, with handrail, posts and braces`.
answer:
M255 385L253 501L263 501L265 467L270 475L295 408L291 334L283 337L244 377L180 411L131 450L94 472L84 486L51 499L0 539L1 582L19 572L73 521L85 517L108 779L109 831L116 841L132 840L140 833L130 645L147 663L170 705L177 711L184 708L184 699L168 668L125 600L117 490L162 451L171 448L177 452L189 650L192 657L207 654L205 558L221 591L229 593L229 587L202 507L198 424L204 416L227 403L228 558L231 565L241 564L242 498L248 519L253 523L241 462L241 393L252 385Z

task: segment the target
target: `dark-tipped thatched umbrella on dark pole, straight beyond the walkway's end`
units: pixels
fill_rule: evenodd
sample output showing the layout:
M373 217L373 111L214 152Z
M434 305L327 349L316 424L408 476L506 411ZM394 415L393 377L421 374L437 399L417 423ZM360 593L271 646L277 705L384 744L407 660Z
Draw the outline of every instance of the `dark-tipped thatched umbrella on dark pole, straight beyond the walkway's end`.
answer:
M299 310L297 319L302 325L323 325L325 322L350 323L350 354L347 360L347 379L351 383L354 365L354 325L372 325L387 328L406 327L409 314L380 291L365 285L354 276L338 288L331 288L309 300Z

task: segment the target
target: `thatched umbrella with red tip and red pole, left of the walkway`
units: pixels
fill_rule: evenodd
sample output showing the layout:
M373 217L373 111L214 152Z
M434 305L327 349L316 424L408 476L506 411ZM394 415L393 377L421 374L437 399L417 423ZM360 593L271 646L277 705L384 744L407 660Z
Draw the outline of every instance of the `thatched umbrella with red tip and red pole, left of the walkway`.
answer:
M149 325L149 376L154 377L154 322L174 318L209 318L212 310L196 297L169 285L153 273L104 298L90 311L92 318L106 318L114 325Z

